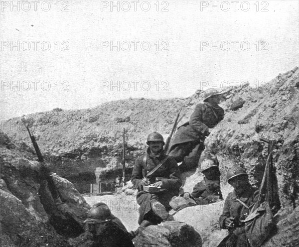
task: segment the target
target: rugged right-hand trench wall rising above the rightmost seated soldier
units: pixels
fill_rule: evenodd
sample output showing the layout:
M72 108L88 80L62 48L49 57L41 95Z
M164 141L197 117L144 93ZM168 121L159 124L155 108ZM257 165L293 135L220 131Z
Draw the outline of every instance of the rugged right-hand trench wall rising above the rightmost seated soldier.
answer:
M243 163L250 181L258 186L267 159L268 144L261 137L277 140L273 162L283 208L299 205L299 70L279 75L263 89L240 91L246 99L238 111L228 111L205 140L202 155L213 153L220 161L223 184L235 163ZM229 105L230 102L227 102Z

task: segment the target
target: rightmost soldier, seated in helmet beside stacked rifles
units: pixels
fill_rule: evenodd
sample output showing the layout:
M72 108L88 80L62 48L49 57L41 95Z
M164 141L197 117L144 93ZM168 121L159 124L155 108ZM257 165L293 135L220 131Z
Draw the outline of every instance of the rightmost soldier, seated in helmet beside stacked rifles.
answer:
M229 170L227 182L234 190L225 199L219 225L220 228L227 229L229 235L218 247L247 247L245 226L241 220L244 220L249 214L247 207L250 208L257 202L259 191L250 185L248 175L242 167Z

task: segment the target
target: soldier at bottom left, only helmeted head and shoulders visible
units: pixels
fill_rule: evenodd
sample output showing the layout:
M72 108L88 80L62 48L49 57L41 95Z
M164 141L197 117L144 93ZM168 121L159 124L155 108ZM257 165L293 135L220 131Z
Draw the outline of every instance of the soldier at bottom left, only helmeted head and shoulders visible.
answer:
M93 246L134 247L126 227L105 203L92 206L84 223L93 236Z

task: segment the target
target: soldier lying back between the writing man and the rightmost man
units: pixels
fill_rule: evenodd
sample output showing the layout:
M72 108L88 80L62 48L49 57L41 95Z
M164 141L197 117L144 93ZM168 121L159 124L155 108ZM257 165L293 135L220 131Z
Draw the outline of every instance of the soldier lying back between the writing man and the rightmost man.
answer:
M201 162L203 181L197 183L191 193L191 197L198 205L214 203L218 199L223 200L220 190L220 172L214 160L206 159Z

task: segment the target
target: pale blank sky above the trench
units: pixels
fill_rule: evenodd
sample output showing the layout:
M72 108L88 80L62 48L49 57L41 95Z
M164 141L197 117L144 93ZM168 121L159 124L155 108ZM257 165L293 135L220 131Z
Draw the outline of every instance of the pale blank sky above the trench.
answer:
M299 2L0 1L0 120L188 97L299 63Z

